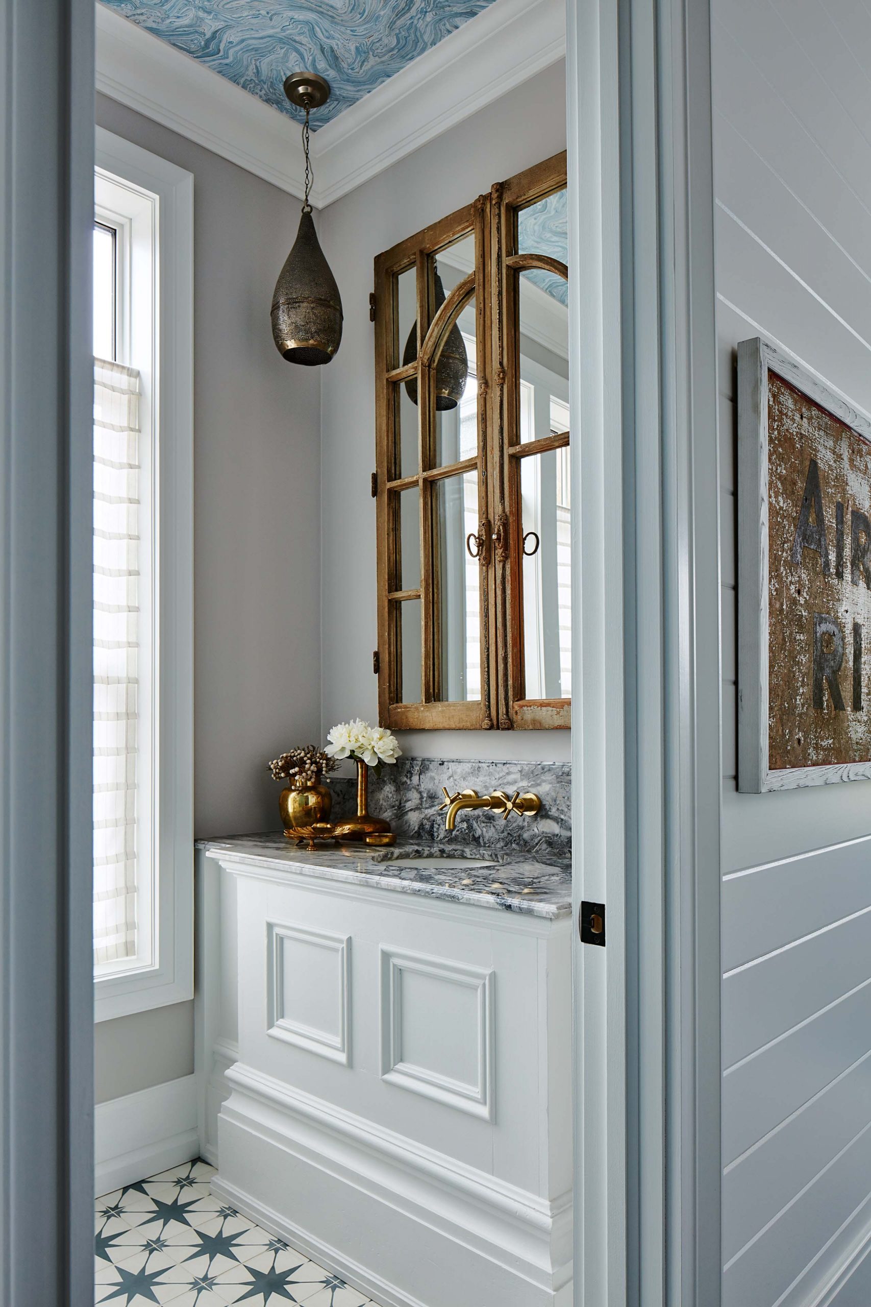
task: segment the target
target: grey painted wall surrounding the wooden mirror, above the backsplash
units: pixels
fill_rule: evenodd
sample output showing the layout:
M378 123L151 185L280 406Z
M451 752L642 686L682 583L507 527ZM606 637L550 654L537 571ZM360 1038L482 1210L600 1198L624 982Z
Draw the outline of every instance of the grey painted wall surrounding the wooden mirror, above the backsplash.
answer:
M342 291L342 348L321 376L323 680L326 732L350 716L377 719L375 582L372 261L428 222L452 213L565 148L565 81L558 65L337 200L321 239ZM568 761L567 731L410 731L417 757Z

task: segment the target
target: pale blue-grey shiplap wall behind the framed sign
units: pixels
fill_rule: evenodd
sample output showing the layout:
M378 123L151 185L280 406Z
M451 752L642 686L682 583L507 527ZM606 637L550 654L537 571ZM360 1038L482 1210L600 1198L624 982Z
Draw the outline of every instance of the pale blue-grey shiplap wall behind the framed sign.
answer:
M871 4L713 0L723 1307L871 1307L871 782L735 791L735 346L871 410ZM867 1249L864 1249L867 1251Z

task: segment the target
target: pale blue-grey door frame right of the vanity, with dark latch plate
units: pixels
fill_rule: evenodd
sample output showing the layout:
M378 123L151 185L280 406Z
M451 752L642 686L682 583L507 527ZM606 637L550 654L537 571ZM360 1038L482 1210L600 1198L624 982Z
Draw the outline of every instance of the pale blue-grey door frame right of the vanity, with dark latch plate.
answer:
M716 1307L720 555L708 0L568 0L576 1307Z

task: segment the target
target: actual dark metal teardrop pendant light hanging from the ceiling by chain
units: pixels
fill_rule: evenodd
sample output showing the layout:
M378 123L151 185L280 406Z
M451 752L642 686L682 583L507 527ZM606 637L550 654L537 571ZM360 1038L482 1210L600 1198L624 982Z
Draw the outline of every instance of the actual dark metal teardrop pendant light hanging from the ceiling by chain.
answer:
M342 299L324 257L312 221L308 193L312 167L308 153L308 112L325 105L329 82L317 73L294 73L285 81L287 99L306 110L306 197L294 248L278 274L272 297L272 335L290 363L329 363L342 340Z

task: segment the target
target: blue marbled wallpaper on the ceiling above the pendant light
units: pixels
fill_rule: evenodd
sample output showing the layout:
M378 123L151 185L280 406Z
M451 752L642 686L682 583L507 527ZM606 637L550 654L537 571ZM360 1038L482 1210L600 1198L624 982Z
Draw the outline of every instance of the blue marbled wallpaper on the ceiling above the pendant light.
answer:
M214 72L302 116L289 73L316 72L333 94L316 131L444 41L492 0L107 0L110 9L193 55Z

